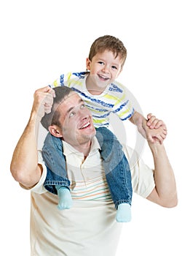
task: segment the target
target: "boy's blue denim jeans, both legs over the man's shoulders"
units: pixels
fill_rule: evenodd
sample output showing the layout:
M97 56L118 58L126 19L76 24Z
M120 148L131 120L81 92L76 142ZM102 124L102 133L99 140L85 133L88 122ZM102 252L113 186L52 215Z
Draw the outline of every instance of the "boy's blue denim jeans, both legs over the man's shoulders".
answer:
M106 127L96 129L96 137L100 144L100 154L106 180L111 192L112 200L117 209L120 203L132 203L132 183L130 166L122 151L122 145L116 136ZM62 140L47 134L42 148L42 157L47 166L47 177L44 187L57 195L55 185L70 186L66 172L66 159L63 155Z

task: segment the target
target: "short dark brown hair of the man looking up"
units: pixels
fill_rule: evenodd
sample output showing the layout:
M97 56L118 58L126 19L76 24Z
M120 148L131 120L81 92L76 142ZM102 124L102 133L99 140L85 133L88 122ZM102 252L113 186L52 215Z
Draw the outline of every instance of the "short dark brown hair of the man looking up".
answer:
M63 102L63 99L65 99L68 94L73 92L73 90L67 86L58 86L53 88L53 90L55 91L55 98L53 98L51 112L48 114L45 113L44 116L41 118L41 124L47 130L49 130L49 127L52 124L56 124L61 127L59 122L60 112L57 111L58 105Z

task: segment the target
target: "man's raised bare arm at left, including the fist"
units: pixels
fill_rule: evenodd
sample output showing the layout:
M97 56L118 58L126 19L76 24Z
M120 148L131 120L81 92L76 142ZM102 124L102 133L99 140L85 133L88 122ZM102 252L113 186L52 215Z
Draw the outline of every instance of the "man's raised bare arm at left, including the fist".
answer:
M37 136L39 123L44 113L52 107L54 91L46 86L34 93L33 107L28 124L15 147L10 170L12 176L23 187L31 188L41 178L41 165L38 165Z

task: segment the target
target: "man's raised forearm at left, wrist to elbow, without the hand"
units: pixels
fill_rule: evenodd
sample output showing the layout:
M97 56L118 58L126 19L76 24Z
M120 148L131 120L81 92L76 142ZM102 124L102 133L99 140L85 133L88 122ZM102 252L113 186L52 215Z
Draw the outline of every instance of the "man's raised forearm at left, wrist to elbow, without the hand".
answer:
M36 138L38 129L39 120L36 117L36 113L32 112L12 156L10 167L12 176L25 187L31 187L36 184L41 175L37 169L38 154Z

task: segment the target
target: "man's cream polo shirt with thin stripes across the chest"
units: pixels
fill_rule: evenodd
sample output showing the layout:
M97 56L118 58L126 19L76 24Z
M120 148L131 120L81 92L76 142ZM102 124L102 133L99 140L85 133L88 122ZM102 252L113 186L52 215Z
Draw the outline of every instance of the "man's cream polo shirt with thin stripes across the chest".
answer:
M92 141L89 156L63 142L68 178L71 180L72 208L60 211L58 196L47 192L43 184L47 169L31 189L31 256L114 256L122 224L116 222L116 210L108 191L98 141ZM133 152L124 149L130 159ZM136 156L137 159L137 156ZM97 165L96 165L97 163ZM153 170L140 159L132 165L133 191L147 197L154 189Z

